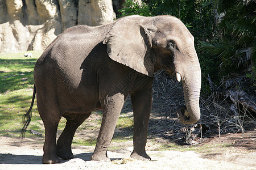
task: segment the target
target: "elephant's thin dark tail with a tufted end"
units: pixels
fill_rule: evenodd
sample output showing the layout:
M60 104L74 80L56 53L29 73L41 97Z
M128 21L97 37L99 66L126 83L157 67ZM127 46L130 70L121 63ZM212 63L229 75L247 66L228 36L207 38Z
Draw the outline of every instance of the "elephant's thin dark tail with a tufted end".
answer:
M25 133L27 130L27 126L30 124L31 121L31 117L32 117L32 107L34 105L34 101L35 101L35 94L36 94L36 88L35 88L35 84L34 84L34 92L33 92L33 97L32 97L32 101L31 101L31 105L30 105L30 109L28 109L27 113L23 115L23 128L20 131L20 134L22 135L22 138L25 137Z

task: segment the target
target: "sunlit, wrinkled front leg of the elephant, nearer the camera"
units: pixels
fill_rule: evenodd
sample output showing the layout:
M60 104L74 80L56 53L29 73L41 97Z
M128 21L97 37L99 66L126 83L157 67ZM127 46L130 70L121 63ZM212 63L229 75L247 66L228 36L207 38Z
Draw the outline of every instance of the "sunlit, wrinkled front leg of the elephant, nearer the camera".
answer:
M103 105L101 129L98 134L96 148L90 156L90 160L110 161L106 151L113 138L115 125L124 103L125 96L119 93L101 100Z

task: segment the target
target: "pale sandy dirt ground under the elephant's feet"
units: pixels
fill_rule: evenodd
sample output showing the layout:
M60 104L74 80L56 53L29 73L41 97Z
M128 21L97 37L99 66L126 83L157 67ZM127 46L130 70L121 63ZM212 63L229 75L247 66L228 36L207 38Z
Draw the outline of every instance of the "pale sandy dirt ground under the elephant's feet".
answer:
M224 137L212 138L207 143L233 142L236 147L229 150L215 148L212 154L195 151L155 151L154 145L147 144L147 154L150 161L140 161L130 158L133 142L112 143L113 146L123 146L117 150L108 151L112 162L102 163L90 161L93 146L77 146L72 151L74 159L61 160L59 164L42 164L42 138L0 138L0 169L256 169L255 133L229 134ZM254 135L254 136L253 136ZM205 144L204 144L205 145Z

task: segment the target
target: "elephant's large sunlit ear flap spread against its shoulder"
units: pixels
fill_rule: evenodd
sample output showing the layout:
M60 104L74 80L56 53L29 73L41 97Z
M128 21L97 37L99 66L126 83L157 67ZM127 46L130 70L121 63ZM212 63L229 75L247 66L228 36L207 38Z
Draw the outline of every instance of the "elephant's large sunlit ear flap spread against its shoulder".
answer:
M106 35L109 57L139 73L153 76L154 61L147 53L151 47L149 31L133 19L118 20Z

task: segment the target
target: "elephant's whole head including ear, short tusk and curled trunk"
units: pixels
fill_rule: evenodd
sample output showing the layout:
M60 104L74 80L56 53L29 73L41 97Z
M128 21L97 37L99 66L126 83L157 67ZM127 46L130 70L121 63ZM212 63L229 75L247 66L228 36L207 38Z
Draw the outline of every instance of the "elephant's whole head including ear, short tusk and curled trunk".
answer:
M159 69L182 80L185 106L178 107L183 124L200 119L201 70L194 39L173 16L129 16L117 20L105 37L109 57L139 73L153 76Z

